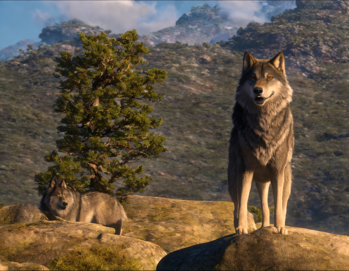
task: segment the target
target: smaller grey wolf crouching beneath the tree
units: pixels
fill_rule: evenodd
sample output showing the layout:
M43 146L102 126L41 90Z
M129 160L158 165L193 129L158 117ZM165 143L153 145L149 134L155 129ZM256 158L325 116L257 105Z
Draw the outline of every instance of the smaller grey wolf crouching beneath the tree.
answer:
M40 210L73 222L90 222L122 233L122 220L127 219L120 202L101 192L79 193L67 188L64 180L50 181L40 202Z

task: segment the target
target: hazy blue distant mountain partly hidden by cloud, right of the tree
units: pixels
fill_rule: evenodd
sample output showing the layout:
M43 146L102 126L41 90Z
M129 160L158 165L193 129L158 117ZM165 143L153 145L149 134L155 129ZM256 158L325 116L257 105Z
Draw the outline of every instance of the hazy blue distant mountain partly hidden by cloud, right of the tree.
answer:
M258 2L261 4L261 9L255 11L253 15L266 20L294 6L294 1L262 0ZM144 35L141 40L148 46L176 41L189 45L227 41L236 34L240 26L240 18L235 18L230 12L230 9L220 4L214 7L208 4L192 7L190 13L183 14L177 20L175 26Z

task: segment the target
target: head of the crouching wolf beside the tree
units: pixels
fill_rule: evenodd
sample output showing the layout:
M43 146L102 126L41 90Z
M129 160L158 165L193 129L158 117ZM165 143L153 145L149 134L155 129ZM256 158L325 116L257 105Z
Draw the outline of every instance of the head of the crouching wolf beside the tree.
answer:
M51 179L46 194L48 195L48 206L57 213L69 209L74 202L72 192L67 188L65 181L62 180L59 184L55 176Z

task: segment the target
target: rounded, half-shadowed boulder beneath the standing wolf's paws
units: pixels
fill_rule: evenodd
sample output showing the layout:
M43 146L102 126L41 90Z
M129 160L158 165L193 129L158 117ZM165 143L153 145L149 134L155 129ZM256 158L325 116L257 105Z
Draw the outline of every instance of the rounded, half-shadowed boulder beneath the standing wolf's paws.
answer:
M156 270L347 270L349 237L287 227L231 234L166 255Z

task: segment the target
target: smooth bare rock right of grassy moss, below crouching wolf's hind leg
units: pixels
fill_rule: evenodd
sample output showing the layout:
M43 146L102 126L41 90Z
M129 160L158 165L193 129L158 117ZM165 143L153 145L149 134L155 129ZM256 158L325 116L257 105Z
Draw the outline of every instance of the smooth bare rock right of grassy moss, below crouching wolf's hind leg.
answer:
M138 261L143 270L155 270L158 262L166 256L166 252L154 243L110 233L99 236L101 244L122 245L129 258Z

